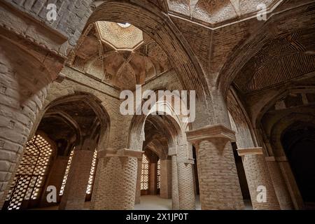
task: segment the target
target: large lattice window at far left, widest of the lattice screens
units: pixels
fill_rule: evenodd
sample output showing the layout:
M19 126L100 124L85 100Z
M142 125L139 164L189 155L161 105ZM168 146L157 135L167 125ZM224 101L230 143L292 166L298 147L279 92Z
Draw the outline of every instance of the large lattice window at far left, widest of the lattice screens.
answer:
M6 197L8 210L21 209L23 201L37 200L52 158L52 147L41 135L36 134L27 142L25 154Z

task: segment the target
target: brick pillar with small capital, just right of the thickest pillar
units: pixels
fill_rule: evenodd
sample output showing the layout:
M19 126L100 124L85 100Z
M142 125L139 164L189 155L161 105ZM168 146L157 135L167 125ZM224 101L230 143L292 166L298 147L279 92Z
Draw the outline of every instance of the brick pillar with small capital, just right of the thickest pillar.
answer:
M253 209L279 210L279 202L274 191L262 148L238 148L237 153L243 160ZM257 197L260 193L259 186L263 186L267 190L266 202L258 202Z

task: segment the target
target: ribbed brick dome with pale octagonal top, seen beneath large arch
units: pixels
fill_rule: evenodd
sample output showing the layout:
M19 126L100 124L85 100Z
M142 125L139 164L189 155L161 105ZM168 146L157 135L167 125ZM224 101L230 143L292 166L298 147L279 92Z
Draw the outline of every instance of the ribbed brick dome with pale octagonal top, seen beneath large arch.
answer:
M124 90L171 69L165 52L137 27L95 22L85 29L68 64Z

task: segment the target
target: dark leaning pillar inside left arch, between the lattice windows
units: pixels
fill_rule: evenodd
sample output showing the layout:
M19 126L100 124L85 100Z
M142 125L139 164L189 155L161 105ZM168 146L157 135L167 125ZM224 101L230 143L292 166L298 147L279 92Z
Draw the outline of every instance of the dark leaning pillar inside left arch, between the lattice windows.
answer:
M75 150L59 209L83 209L93 160L92 150Z

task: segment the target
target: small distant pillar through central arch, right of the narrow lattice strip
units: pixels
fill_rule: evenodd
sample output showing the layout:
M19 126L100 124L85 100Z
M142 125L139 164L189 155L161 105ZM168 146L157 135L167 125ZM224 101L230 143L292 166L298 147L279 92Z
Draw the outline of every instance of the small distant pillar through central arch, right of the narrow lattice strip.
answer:
M172 160L160 162L160 197L172 198Z

